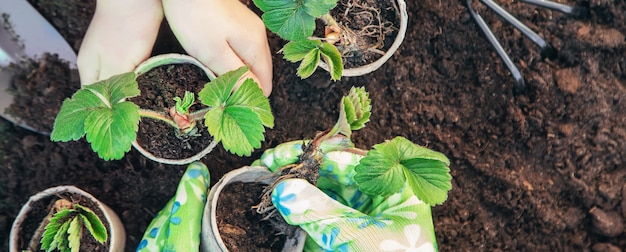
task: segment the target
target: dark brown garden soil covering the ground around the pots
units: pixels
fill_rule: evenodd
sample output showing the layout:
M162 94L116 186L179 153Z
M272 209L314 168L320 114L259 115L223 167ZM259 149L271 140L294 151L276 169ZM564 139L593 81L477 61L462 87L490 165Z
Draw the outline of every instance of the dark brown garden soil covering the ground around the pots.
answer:
M66 6L36 4L46 17L64 23L62 34L84 34L95 0L49 2ZM558 50L549 60L474 1L520 68L527 84L521 93L513 92L506 66L464 2L407 1L403 45L366 76L331 82L318 70L300 80L297 64L274 55L270 100L276 126L251 157L218 147L203 158L212 183L266 148L331 127L340 97L351 86L364 86L373 115L353 134L357 147L401 135L450 158L453 189L433 208L441 251L626 248L626 234L615 229L626 218L626 2L562 1L589 7L589 17L575 19L520 1L498 1ZM77 7L85 3L89 7ZM284 45L269 37L273 52ZM66 38L78 49L81 36ZM51 143L4 121L0 126L0 249L6 250L9 226L31 194L72 183L120 214L127 251L133 251L185 169L153 163L135 151L104 162L84 141Z

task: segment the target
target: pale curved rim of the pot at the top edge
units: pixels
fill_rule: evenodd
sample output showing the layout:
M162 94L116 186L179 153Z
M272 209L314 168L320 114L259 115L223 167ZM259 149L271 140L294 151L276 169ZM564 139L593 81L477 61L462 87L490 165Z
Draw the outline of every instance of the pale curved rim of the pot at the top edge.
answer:
M393 43L391 43L391 46L389 46L389 48L384 51L384 54L380 58L366 65L346 67L345 59L344 59L344 69L343 69L342 76L361 76L361 75L365 75L365 74L368 74L377 70L383 64L385 64L385 62L387 62L389 58L391 58L391 56L395 53L395 51L398 50L398 47L400 47L400 45L402 44L402 41L404 40L404 36L406 34L407 20L408 20L408 14L406 11L406 2L404 0L389 0L389 1L391 2L391 5L394 6L395 13L399 19L399 27L396 27L398 31L395 36L395 39L393 40ZM324 61L320 61L319 66L323 68L324 70L329 71L328 65Z

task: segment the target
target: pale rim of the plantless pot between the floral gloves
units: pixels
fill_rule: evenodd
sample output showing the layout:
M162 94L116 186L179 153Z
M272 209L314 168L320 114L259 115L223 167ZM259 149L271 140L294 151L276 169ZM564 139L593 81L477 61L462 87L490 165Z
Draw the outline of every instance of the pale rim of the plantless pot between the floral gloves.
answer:
M267 185L271 182L271 176L272 173L265 167L246 166L228 172L211 188L202 218L201 251L228 251L220 235L216 218L218 200L224 188L235 182L258 182ZM260 199L260 197L257 199ZM298 230L294 238L287 238L282 251L302 251L305 238L306 233L302 230Z

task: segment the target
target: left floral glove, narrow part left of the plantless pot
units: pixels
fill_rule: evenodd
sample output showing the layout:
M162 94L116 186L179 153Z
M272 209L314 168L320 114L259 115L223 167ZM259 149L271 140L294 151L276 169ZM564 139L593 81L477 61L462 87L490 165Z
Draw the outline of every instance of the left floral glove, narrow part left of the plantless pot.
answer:
M148 225L137 251L198 251L209 183L204 164L189 164L176 195Z

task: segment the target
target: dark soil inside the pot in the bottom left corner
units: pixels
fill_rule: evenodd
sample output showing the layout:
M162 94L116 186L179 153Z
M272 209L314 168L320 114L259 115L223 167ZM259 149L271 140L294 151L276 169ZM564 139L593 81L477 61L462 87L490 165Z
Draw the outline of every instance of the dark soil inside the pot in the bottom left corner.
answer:
M79 204L81 206L91 209L100 218L100 220L102 220L102 223L107 229L108 237L110 237L110 224L106 222L104 214L98 208L96 203L81 195L73 193L61 193L59 195L52 195L42 200L31 203L31 209L26 215L27 217L22 224L22 231L18 236L18 244L23 244L20 249L28 248L28 244L30 244L30 241L31 239L33 239L35 231L39 228L40 225L47 225L48 223L50 223L49 220L46 220L42 224L42 220L44 220L46 216L50 213L50 210L54 206L54 202L58 199L67 199L74 204ZM96 241L93 236L91 236L91 234L85 227L82 227L82 229L83 231L81 236L80 251L109 251L110 240L107 240L104 244L101 244L100 242ZM34 239L39 241L41 239L41 236L35 237ZM37 243L37 245L39 246L40 244ZM36 247L33 249L33 251L39 251L39 249L39 247Z

